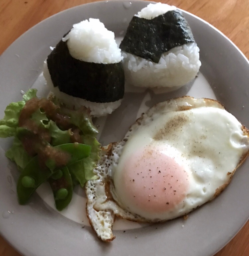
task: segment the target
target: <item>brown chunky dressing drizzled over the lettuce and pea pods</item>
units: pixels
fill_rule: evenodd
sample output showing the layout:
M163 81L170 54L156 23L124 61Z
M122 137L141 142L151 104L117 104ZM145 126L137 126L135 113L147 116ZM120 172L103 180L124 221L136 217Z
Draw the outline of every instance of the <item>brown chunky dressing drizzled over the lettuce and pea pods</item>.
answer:
M70 159L70 155L51 146L49 144L51 142L49 130L39 126L31 119L32 115L39 109L46 114L48 119L54 121L60 129L68 130L71 134L72 143L82 143L80 129L71 124L70 117L60 113L59 106L56 106L49 99L32 98L26 102L19 116L19 127L27 129L27 132L20 136L24 149L31 156L38 155L39 165L42 168L46 168L45 163L48 159L53 160L56 167L65 166Z

